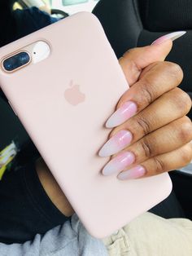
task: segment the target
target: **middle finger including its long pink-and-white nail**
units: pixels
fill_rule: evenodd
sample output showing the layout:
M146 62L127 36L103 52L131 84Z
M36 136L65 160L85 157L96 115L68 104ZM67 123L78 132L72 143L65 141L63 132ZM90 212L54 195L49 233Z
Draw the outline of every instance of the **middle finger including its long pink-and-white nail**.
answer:
M152 131L184 117L190 108L189 95L179 88L170 90L141 113L112 130L110 139L99 151L99 156L109 157L120 152Z

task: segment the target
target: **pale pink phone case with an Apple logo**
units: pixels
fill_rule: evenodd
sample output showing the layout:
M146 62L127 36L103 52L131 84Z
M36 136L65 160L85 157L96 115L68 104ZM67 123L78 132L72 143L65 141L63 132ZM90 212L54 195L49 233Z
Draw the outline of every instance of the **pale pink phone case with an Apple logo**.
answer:
M164 200L172 183L168 174L101 174L104 124L128 85L98 19L72 15L2 47L0 59L38 40L49 43L50 56L15 73L1 69L2 90L88 232L108 236Z

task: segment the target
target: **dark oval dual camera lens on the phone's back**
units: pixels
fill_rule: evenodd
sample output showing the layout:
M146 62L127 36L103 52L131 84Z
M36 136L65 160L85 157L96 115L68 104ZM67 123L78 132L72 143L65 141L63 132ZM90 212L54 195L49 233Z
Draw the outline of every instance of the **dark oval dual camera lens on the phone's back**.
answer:
M20 68L21 66L28 64L29 61L30 56L28 55L28 53L26 51L21 51L20 53L17 53L16 55L13 55L8 59L4 60L2 65L5 70L11 72L16 68Z

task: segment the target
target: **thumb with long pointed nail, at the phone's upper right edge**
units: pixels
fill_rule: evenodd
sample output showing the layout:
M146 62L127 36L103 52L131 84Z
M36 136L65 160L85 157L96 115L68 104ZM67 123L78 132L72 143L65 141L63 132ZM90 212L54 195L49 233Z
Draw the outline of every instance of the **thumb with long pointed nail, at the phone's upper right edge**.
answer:
M120 58L119 63L129 86L137 82L143 68L156 61L164 61L172 50L172 41L184 34L185 31L169 33L155 40L151 46L138 47L126 51Z

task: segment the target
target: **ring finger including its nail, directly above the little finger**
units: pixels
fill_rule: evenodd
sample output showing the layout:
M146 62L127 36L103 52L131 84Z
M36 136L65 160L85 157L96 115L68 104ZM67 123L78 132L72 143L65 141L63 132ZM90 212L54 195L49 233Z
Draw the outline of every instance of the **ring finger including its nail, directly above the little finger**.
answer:
M112 158L103 169L103 174L110 175L121 170L139 165L151 157L181 148L192 139L192 122L189 117L182 117L155 130L128 148L124 148ZM114 141L113 141L114 143ZM114 143L115 145L118 143ZM111 147L112 148L112 147Z

